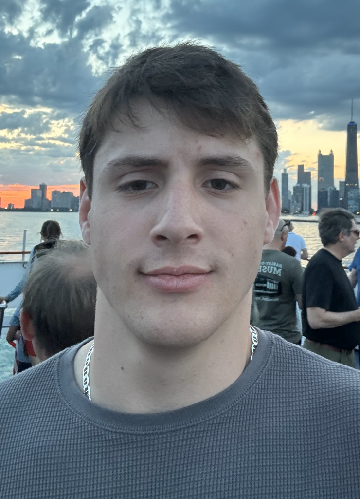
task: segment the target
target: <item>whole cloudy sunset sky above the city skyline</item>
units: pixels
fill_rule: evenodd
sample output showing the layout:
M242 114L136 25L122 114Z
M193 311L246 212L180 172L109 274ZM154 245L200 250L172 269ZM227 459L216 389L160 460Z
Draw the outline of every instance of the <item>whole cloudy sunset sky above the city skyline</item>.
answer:
M0 0L0 197L29 186L77 192L81 114L109 68L159 43L200 40L239 63L264 95L284 166L313 170L360 120L359 0ZM335 183L337 186L337 182Z

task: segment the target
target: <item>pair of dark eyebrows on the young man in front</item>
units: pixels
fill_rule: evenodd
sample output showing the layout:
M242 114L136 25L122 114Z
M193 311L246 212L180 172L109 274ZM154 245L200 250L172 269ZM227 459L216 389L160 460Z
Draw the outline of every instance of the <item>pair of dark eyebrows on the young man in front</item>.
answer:
M145 168L160 166L163 168L168 167L169 161L160 159L155 156L121 156L120 158L113 159L105 165L105 170L122 169L127 170L131 168ZM244 158L238 155L220 155L209 156L202 158L197 162L198 166L218 166L229 169L240 169L243 171L253 172L253 166Z

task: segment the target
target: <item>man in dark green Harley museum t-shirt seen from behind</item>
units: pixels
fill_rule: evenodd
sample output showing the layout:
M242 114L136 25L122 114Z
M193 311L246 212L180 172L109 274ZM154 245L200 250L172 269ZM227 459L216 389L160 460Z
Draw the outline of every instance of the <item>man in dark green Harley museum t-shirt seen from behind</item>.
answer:
M300 344L296 301L301 308L302 268L296 258L283 252L288 226L279 221L274 239L263 247L253 296L257 303L261 329Z

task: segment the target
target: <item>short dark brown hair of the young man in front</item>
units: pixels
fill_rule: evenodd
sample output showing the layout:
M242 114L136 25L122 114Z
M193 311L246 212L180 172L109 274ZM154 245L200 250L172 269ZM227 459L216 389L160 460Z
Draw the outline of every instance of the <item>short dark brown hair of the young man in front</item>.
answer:
M149 48L116 68L96 94L79 137L81 165L89 195L93 189L94 158L105 133L120 123L139 127L132 104L144 98L159 112L173 112L185 127L222 137L235 132L254 136L264 160L268 192L277 158L277 133L255 83L238 64L209 47L192 43Z

